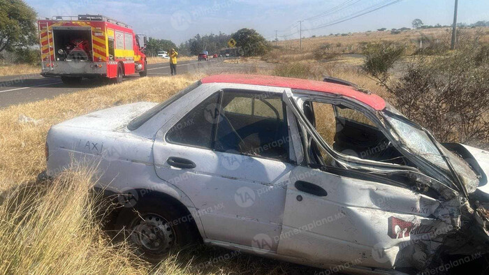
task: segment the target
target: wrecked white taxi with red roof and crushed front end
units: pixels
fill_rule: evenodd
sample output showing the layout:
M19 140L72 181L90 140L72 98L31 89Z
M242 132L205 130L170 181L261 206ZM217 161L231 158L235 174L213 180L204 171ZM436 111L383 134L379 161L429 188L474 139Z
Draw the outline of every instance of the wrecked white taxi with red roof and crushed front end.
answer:
M348 82L205 77L161 104L52 126L50 176L96 165L148 260L202 239L342 272L412 272L488 250L489 153L440 144Z

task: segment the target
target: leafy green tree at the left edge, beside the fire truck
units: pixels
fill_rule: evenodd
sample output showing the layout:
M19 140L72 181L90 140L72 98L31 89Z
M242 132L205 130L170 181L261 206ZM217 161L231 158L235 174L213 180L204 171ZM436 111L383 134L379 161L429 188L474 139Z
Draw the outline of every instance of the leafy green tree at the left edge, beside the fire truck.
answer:
M0 0L0 52L37 42L36 11L22 0Z

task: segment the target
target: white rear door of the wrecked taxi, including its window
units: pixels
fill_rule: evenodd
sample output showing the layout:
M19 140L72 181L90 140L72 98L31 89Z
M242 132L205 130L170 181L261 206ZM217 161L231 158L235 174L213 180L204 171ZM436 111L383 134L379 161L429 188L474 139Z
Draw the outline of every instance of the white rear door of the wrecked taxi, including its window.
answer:
M280 233L289 132L282 95L262 89L207 91L156 134L156 173L189 196L207 241L253 246Z

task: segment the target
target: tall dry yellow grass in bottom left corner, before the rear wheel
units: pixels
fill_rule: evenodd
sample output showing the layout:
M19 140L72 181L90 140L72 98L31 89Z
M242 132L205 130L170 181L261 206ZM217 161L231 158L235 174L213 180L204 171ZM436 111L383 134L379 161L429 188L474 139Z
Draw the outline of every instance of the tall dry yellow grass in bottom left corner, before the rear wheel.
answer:
M101 231L91 171L23 184L0 205L1 274L145 274L149 265Z

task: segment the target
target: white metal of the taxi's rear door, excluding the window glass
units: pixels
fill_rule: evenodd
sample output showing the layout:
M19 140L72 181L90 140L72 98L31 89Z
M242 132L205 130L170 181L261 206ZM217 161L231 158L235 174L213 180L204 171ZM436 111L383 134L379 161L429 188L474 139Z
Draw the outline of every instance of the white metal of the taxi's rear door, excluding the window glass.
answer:
M156 173L165 181L174 181L182 191L192 198L197 209L206 207L220 209L201 215L206 236L210 239L250 245L250 240L259 232L275 237L280 234L285 199L286 180L291 165L265 158L238 156L226 152L211 151L198 147L172 144L165 139L166 133L205 98L218 92L222 84L202 85L196 89L198 98L185 101L184 107L169 106L167 112L175 116L169 119L156 134L154 142L154 165ZM228 88L247 89L239 85ZM254 87L263 92L279 94L282 89ZM195 98L195 94L189 96ZM173 109L175 108L175 109ZM170 157L186 158L196 164L192 170L172 168ZM239 164L239 168L236 167ZM249 173L249 171L254 171ZM205 192L213 196L203 195ZM230 195L231 194L231 195ZM253 194L266 194L268 200L255 200ZM251 195L247 198L247 195ZM228 230L222 230L222 228ZM276 250L276 246L271 248Z

